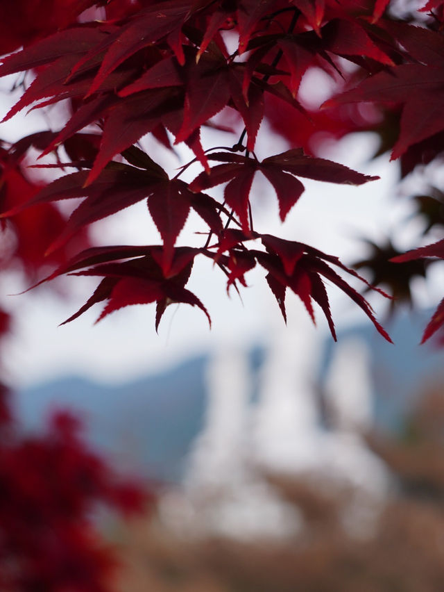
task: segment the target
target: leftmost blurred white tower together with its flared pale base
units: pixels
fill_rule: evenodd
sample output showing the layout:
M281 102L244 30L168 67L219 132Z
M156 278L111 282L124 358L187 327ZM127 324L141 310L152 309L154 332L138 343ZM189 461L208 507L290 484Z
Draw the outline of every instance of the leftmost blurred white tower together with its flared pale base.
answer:
M293 509L282 504L248 464L253 382L246 352L232 344L219 347L207 381L205 428L191 452L185 482L195 517L188 528L243 538L294 532L298 521Z

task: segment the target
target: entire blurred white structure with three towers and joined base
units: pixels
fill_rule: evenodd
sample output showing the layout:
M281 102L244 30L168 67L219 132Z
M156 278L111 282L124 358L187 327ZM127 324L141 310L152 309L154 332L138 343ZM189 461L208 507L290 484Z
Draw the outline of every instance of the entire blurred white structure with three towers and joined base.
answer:
M268 331L255 406L246 351L232 343L221 346L210 363L205 428L196 439L185 482L191 513L210 531L282 536L298 529L294 509L276 497L260 472L252 470L254 465L352 485L361 492L355 510L347 509L352 528L361 529L368 518L372 522L386 491L382 464L354 431L370 420L365 346L347 341L337 346L327 386L338 421L326 430L314 390L325 336L302 306L297 313L296 302L292 307L289 328Z

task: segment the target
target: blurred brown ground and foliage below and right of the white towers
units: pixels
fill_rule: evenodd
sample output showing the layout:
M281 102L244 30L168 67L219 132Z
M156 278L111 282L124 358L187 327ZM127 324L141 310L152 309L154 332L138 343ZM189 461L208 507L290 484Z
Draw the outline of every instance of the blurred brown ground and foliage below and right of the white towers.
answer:
M366 436L393 484L361 532L341 518L354 493L323 475L262 475L302 516L293 536L194 537L158 519L136 520L119 534L125 568L117 590L436 592L444 582L443 438L440 388L425 393L396 438Z

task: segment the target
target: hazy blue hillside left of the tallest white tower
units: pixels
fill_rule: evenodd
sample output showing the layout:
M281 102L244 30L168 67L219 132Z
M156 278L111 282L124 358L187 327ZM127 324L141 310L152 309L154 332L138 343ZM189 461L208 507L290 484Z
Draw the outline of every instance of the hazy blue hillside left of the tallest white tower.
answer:
M252 375L263 359L260 347L248 352ZM189 447L205 422L208 362L208 355L198 356L119 386L63 377L19 390L12 401L29 430L41 429L51 409L72 409L85 419L89 442L113 462L137 474L178 482ZM253 380L252 399L257 389Z

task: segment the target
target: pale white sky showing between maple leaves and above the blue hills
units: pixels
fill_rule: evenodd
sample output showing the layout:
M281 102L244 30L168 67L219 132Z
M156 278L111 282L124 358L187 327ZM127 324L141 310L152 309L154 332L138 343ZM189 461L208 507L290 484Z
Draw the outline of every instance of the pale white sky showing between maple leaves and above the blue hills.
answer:
M9 80L6 83L3 81L2 88L8 88L8 84ZM2 114L6 113L6 104L11 102L9 94L0 94ZM51 121L56 121L56 115L51 115ZM14 140L24 133L40 131L45 126L46 123L42 123L34 112L0 124L0 137ZM204 138L204 147L231 145L234 141L234 136L216 133ZM181 147L180 154L185 160L176 161L165 149L156 146L157 154L151 154L167 167L170 174L189 159ZM287 149L282 139L272 135L266 125L259 131L257 147L259 158ZM409 212L405 200L403 202L392 195L395 166L389 165L386 157L368 162L374 150L375 138L358 134L339 142L334 154L323 155L360 172L379 174L382 179L359 188L302 180L306 191L284 226L278 218L273 189L265 182L255 182L255 229L307 242L329 254L341 256L344 263L364 256L366 252L357 238L367 236L378 240L387 236L398 220ZM264 154L261 154L262 151ZM189 177L193 178L198 172L199 167L190 170ZM205 231L205 225L197 217L190 217L178 244L202 244L202 237L194 235L196 230ZM159 241L145 202L97 223L94 232L101 244L150 244ZM413 247L413 241L418 236L417 223L407 225L403 234L401 240L405 244L402 247ZM101 311L99 307L94 307L78 320L58 327L58 323L69 317L89 297L96 286L96 279L67 279L65 286L70 297L58 299L45 288L26 295L7 296L26 287L10 278L8 285L2 287L1 298L6 299L8 306L17 312L17 330L6 349L6 379L12 384L25 385L54 375L80 372L101 381L124 381L212 348L221 340L239 344L263 338L268 331L284 327L264 275L262 270L253 270L247 275L251 287L243 290L242 304L235 293L231 298L227 297L225 276L219 270L213 270L209 261L200 262L197 259L187 287L196 293L210 312L212 331L209 331L207 319L201 311L182 304L169 307L158 336L154 329L153 305L128 307L92 327ZM370 322L340 290L330 290L330 297L338 327L355 321ZM425 304L433 304L439 297L438 283L432 282L420 297ZM379 297L372 298L371 302L380 318L385 303ZM291 324L293 317L298 316L297 312L293 315L292 309L298 311L300 304L293 297L287 299L287 304ZM327 331L320 312L317 318L317 330Z

